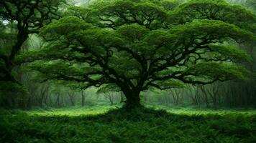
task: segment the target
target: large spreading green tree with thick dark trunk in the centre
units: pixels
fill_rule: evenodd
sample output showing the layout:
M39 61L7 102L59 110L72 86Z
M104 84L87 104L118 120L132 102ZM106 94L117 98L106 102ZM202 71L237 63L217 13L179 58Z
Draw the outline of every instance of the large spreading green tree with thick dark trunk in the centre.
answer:
M127 107L140 92L246 79L237 43L255 40L256 18L222 0L100 1L73 7L40 34L45 48L20 56L45 80L121 90ZM27 58L29 57L29 58ZM26 59L26 60L24 60Z

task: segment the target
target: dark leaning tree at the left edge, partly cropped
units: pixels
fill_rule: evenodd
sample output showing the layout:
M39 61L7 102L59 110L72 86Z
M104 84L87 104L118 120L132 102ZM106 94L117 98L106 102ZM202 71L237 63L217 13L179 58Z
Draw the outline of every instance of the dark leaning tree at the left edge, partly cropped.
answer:
M0 59L4 61L1 65L1 81L16 82L12 75L14 59L22 49L22 45L29 38L29 34L37 34L44 24L49 24L52 19L58 19L60 4L63 0L5 0L0 2L0 19L14 24L16 39L12 39L12 46L1 47L6 49L0 53Z

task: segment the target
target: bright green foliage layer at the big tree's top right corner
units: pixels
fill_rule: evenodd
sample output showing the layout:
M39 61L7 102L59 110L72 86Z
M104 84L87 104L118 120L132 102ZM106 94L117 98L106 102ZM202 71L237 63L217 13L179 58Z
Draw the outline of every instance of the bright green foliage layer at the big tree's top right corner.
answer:
M175 9L175 18L188 22L194 19L221 20L255 32L255 15L242 6L229 5L226 1L192 0Z

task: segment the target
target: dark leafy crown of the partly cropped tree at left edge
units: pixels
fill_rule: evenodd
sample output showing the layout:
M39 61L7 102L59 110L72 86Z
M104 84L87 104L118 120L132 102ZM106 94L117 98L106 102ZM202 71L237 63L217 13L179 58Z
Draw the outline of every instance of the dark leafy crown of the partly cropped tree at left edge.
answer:
M57 11L60 6L65 4L65 0L52 0L52 1L36 1L36 0L24 0L20 3L16 3L12 0L3 1L0 4L0 17L4 20L17 20L18 18L28 18L29 22L39 21L42 18L43 21L49 23L52 17L56 17L60 14ZM22 8L22 9L21 9ZM56 9L52 9L56 8ZM34 10L34 11L31 11ZM22 13L18 13L21 12ZM48 14L46 14L48 12ZM41 15L44 14L44 15ZM45 18L44 16L49 16ZM27 20L27 19L19 19ZM34 24L37 27L37 24Z

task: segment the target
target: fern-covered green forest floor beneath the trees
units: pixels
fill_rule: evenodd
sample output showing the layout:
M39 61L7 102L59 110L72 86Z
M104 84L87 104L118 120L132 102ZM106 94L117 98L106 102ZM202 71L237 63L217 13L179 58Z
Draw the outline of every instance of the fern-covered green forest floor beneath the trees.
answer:
M162 108L162 109L160 109ZM255 110L116 107L0 110L0 142L255 143Z

